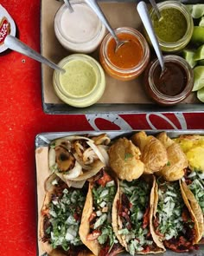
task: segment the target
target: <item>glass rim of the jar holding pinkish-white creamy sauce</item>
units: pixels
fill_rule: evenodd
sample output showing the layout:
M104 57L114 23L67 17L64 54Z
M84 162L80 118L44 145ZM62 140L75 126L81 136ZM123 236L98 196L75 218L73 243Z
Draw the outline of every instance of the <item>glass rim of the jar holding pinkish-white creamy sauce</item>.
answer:
M61 5L60 9L56 12L55 16L54 16L54 30L57 32L56 34L60 34L61 36L61 41L63 41L63 43L69 43L74 45L86 45L86 44L90 44L92 42L94 42L95 40L97 40L100 36L100 34L103 34L103 31L105 30L105 26L103 23L101 23L101 21L99 20L99 17L96 16L96 14L92 11L92 9L89 7L89 5L84 1L84 0L70 0L70 3L74 6L74 4L83 4L85 5L88 10L90 10L92 12L92 15L95 16L99 22L99 25L97 27L97 31L96 33L94 33L94 35L92 37L89 37L87 40L85 41L80 41L78 42L77 40L72 40L71 38L68 38L62 31L61 28L61 16L64 14L65 11L68 11L67 5L66 3L64 3L63 5ZM76 46L74 47L76 48Z

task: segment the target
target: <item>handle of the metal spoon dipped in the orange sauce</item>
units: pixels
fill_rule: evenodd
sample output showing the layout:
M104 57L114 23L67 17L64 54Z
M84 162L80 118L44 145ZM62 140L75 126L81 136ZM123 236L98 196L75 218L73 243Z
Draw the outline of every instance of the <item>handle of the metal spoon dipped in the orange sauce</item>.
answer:
M115 41L118 43L118 37L115 34L115 31L112 30L112 26L106 19L103 11L100 9L99 4L97 3L96 0L86 0L86 3L92 8L93 11L99 16L99 19L102 23L104 23L105 27L109 32L111 33L112 37L115 39Z

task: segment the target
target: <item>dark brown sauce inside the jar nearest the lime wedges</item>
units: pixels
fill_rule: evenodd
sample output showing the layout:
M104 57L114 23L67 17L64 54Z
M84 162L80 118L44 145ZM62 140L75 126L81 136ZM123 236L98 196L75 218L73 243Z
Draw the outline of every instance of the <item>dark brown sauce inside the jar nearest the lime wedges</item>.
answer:
M175 96L181 94L188 82L187 72L182 65L175 62L166 62L162 76L161 72L160 66L157 66L153 74L156 89L163 95Z

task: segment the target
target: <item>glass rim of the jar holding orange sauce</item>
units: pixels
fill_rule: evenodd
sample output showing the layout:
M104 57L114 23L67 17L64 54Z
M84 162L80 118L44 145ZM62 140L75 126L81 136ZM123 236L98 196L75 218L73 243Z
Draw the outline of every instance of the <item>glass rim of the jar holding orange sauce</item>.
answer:
M105 56L104 59L105 59L105 62L106 64L111 67L112 69L114 69L116 72L120 73L120 72L123 72L124 74L129 74L130 72L137 72L137 70L139 69L142 69L143 66L145 66L146 62L144 60L147 60L149 59L150 57L150 48L149 48L149 45L148 43L146 42L146 39L144 38L144 36L138 31L138 30L135 30L133 28L130 28L130 27L120 27L120 28L117 28L114 30L116 34L122 34L122 33L128 33L128 34L131 34L133 36L135 36L138 40L138 42L140 43L142 49L143 49L143 56L140 60L140 62L137 63L137 66L131 68L131 69L121 69L121 68L118 68L116 65L114 65L110 58L108 57L107 55L107 46L108 46L108 43L110 43L110 41L112 40L112 35L110 33L108 33L102 43L101 43L101 50L102 50L102 53L103 55Z

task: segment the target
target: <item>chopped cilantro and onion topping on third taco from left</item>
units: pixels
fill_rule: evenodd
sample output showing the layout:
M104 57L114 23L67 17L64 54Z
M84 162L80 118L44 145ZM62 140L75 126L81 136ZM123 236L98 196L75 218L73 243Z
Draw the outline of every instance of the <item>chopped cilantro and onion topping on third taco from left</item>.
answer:
M120 187L131 204L129 213L131 228L128 228L128 222L125 226L123 223L123 229L120 229L119 233L125 235L129 253L135 255L135 253L143 251L145 246L153 243L152 240L147 238L148 227L142 227L143 214L149 207L150 202L150 184L143 180L120 181Z

